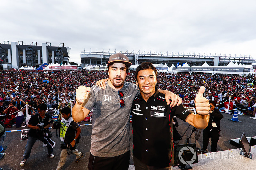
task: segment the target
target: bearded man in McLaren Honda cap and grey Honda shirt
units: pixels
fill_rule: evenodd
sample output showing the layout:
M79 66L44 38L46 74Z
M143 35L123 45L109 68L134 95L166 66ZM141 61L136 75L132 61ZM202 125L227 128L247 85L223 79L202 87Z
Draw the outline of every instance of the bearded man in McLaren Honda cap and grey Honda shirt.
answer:
M72 109L74 121L84 120L93 107L89 170L129 168L129 116L133 99L140 92L137 85L124 82L131 64L121 53L111 55L105 90L96 85L76 90L76 104ZM169 94L166 98L171 96L172 101L176 101L172 103L175 106L176 96Z

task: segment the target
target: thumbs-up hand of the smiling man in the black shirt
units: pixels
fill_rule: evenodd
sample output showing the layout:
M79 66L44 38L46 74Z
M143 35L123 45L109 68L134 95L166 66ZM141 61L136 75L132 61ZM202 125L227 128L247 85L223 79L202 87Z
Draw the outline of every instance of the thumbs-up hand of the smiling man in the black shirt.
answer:
M203 97L205 87L201 86L195 98L196 112L201 115L208 115L210 111L209 100Z

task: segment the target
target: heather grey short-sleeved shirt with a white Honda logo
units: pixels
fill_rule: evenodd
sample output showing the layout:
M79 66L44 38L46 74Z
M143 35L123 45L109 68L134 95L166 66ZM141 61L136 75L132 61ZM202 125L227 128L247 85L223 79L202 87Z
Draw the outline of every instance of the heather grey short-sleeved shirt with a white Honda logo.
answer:
M93 107L90 152L94 156L114 157L130 150L130 111L140 90L136 84L124 82L120 91L124 93L124 107L120 107L118 91L107 82L104 90L93 85L84 101L85 108Z

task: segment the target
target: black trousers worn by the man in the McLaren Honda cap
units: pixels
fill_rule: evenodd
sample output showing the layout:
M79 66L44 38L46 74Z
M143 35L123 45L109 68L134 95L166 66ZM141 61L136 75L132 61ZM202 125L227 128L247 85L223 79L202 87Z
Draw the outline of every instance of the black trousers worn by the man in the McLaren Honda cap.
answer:
M90 152L89 170L128 170L130 164L130 150L115 157L93 156Z

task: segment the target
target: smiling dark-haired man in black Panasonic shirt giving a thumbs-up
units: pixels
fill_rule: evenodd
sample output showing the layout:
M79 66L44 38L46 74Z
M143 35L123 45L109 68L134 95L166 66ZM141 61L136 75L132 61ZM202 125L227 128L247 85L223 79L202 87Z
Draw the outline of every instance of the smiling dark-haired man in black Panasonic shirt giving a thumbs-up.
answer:
M209 122L210 104L203 97L204 87L195 98L198 114L183 104L170 107L156 88L157 70L152 63L142 63L135 71L140 94L132 104L133 161L136 170L171 169L174 163L172 119L176 116L198 129Z

